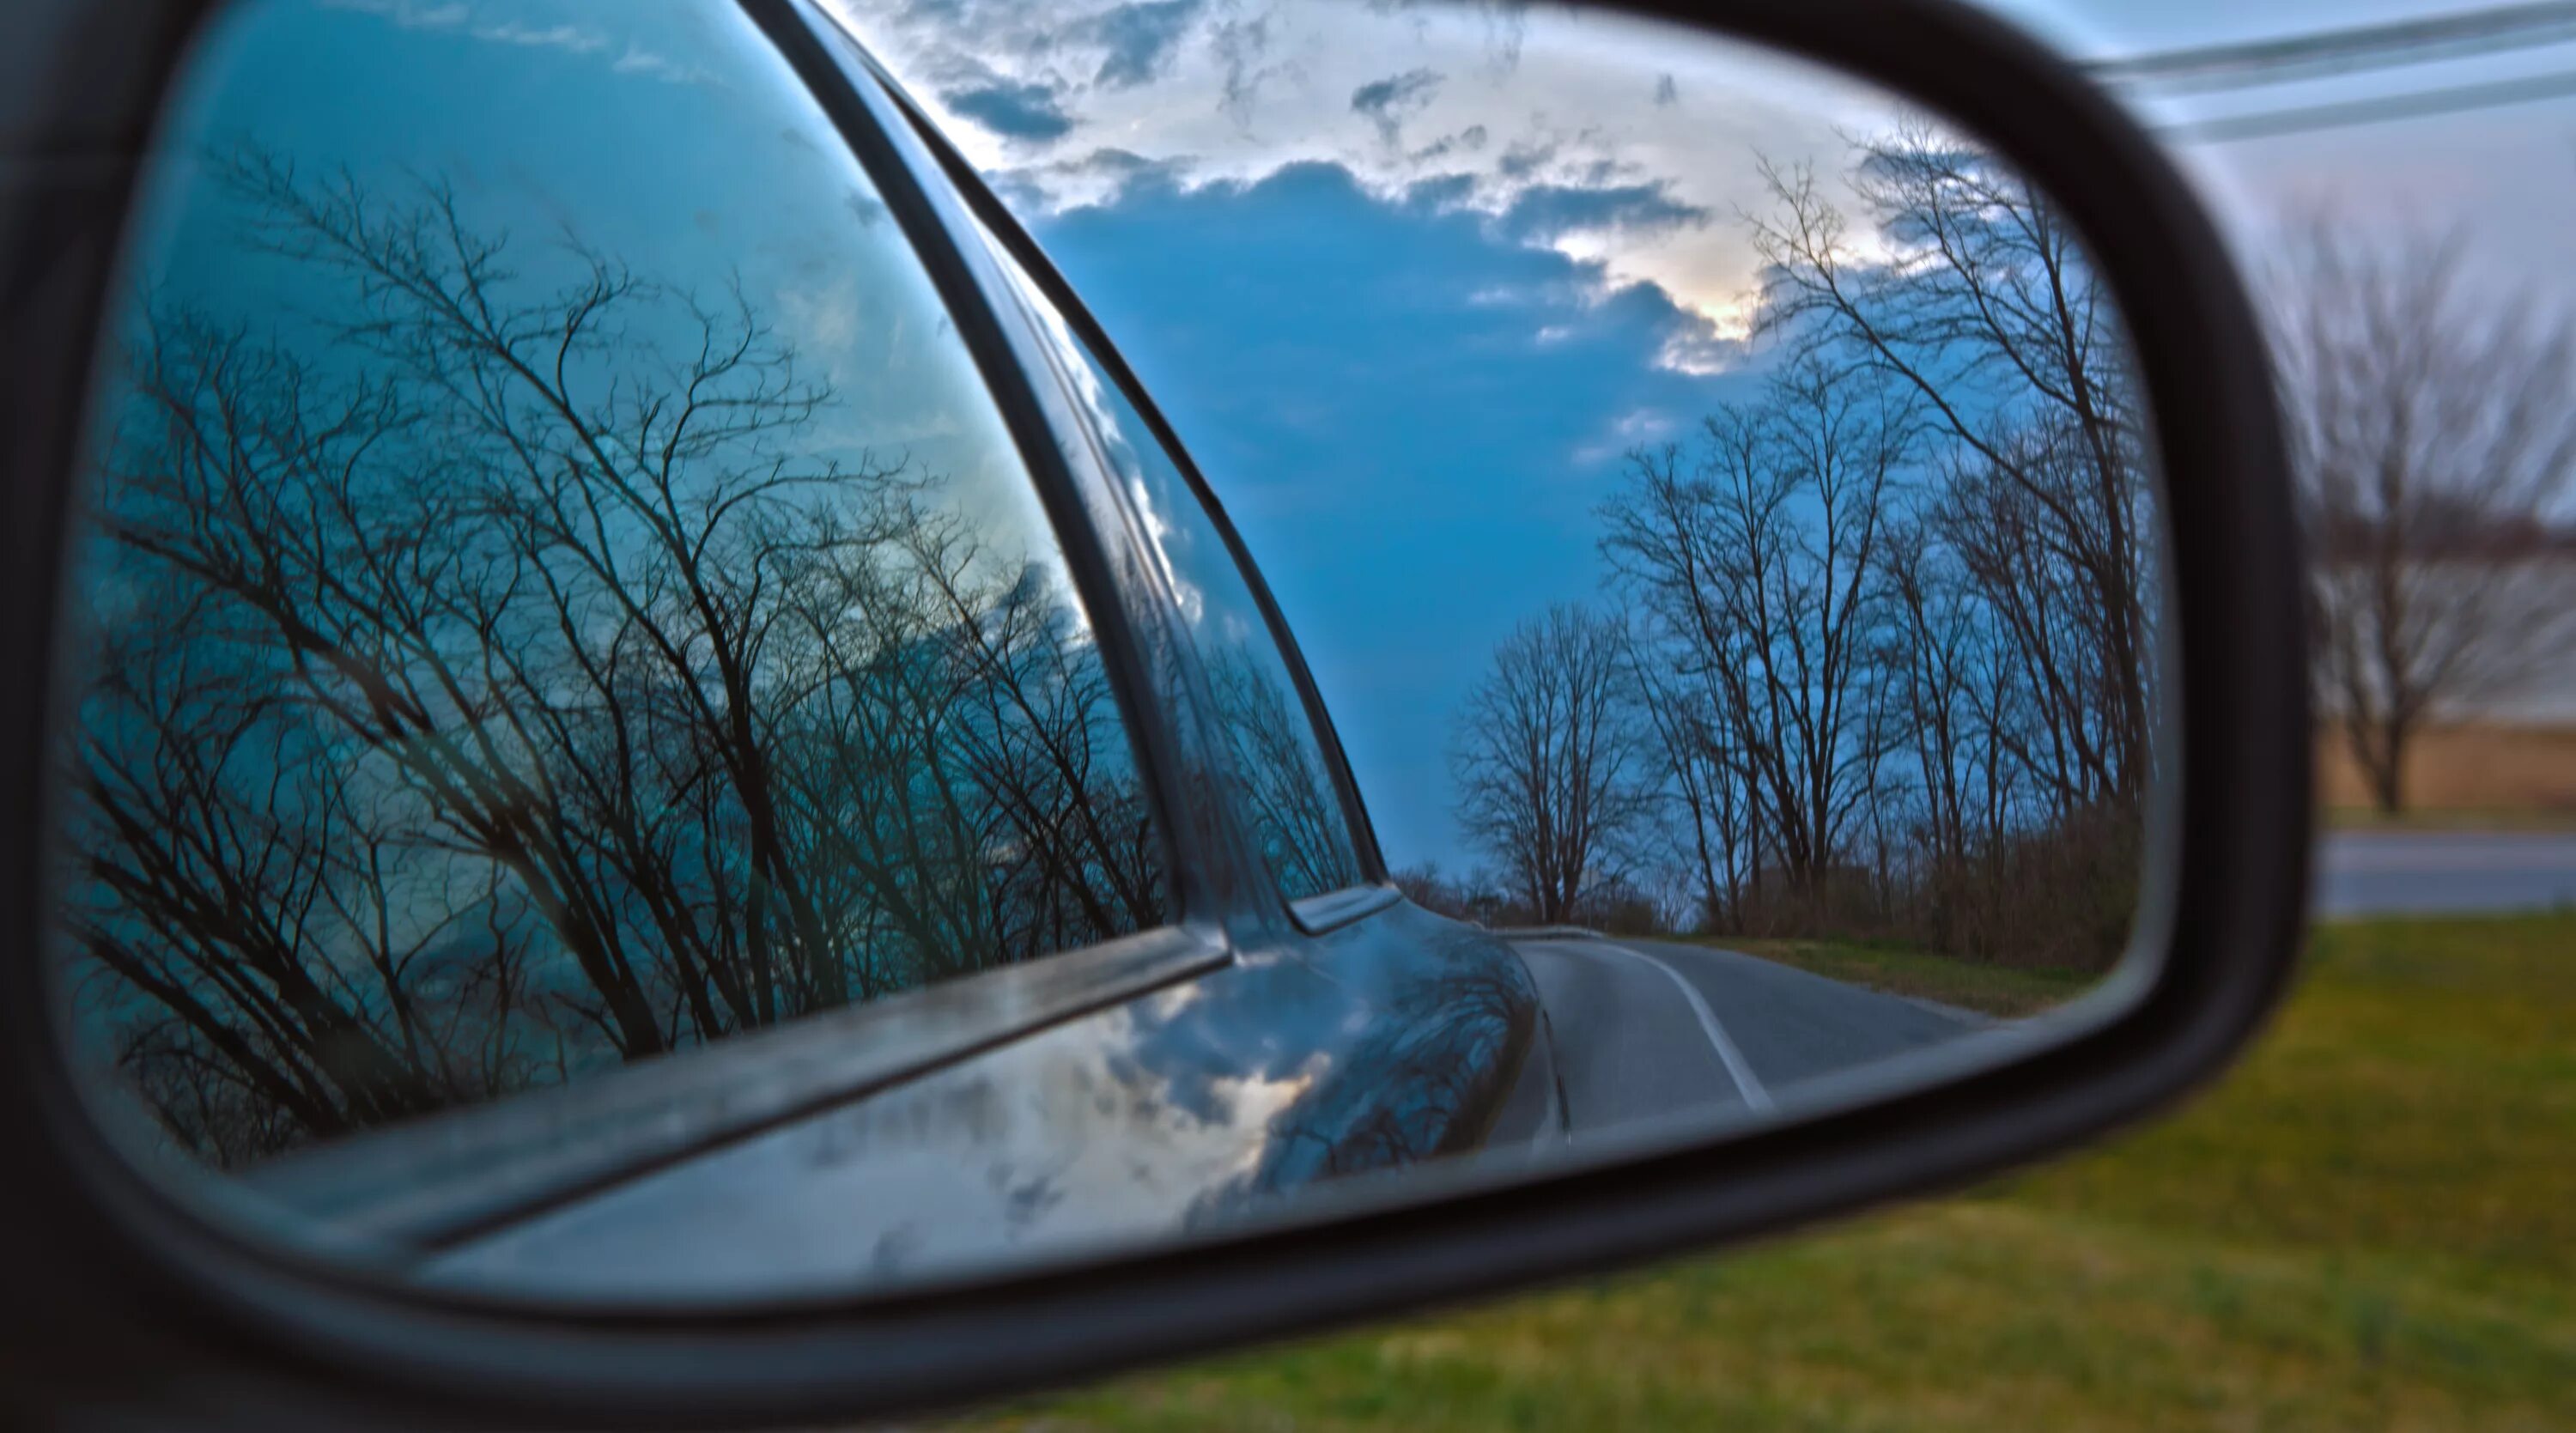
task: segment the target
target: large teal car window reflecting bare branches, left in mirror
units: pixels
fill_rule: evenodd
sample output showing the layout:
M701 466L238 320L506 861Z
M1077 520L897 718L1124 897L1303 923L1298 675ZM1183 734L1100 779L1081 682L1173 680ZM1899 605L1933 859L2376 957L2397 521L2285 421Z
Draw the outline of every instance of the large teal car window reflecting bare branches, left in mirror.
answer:
M732 5L234 8L75 539L64 990L219 1165L1164 920L1092 629Z

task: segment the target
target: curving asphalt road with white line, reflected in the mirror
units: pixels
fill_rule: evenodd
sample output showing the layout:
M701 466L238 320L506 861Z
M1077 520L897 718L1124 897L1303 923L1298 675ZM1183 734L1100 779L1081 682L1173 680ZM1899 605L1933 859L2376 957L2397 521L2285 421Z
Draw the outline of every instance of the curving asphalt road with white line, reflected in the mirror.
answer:
M1556 1036L1569 1131L1770 1108L1798 1080L1978 1028L1965 1010L1664 941L1515 938Z

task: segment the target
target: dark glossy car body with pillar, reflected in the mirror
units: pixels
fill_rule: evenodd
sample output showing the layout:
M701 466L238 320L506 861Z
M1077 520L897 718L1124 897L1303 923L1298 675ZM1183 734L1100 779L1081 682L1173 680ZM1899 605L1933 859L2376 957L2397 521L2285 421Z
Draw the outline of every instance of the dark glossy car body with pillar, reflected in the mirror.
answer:
M242 1204L459 1291L690 1304L1069 1258L1561 1129L1528 967L1388 884L1296 647L1167 425L899 88L809 26L1023 451L1064 456L1041 497L1100 539L1090 611L1123 665L1180 920L289 1152L242 1170ZM1244 711L1175 611L1151 549L1167 518L1136 510L1154 461L1177 490L1159 497L1200 505L1239 559L1314 722L1358 848L1340 889L1285 899L1280 843L1247 809Z

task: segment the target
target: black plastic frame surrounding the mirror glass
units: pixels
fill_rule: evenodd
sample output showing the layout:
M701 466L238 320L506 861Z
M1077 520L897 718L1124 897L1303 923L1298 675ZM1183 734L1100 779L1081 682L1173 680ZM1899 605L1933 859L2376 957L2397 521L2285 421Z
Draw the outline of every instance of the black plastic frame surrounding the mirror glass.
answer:
M801 72L804 0L747 0ZM2164 961L2120 1015L1955 1082L1615 1168L1358 1209L1103 1268L696 1320L438 1307L167 1217L77 1113L33 951L62 505L152 119L209 0L21 0L0 85L0 1399L167 1423L698 1428L889 1418L1780 1232L2063 1149L2215 1075L2308 894L2311 724L2262 332L2172 162L2069 64L1953 0L1628 0L1984 134L2087 235L2156 407L2182 776ZM23 70L21 70L23 77Z

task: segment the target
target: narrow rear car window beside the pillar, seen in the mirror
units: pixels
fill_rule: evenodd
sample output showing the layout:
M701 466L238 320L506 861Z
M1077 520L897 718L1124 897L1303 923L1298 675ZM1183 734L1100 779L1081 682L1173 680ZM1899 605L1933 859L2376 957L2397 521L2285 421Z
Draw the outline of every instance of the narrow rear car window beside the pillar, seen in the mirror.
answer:
M1144 515L1162 580L1206 675L1236 807L1252 822L1280 894L1306 899L1360 884L1358 843L1324 745L1242 564L1172 454L1010 250L984 232L994 263L1048 330L1072 371L1108 464Z

